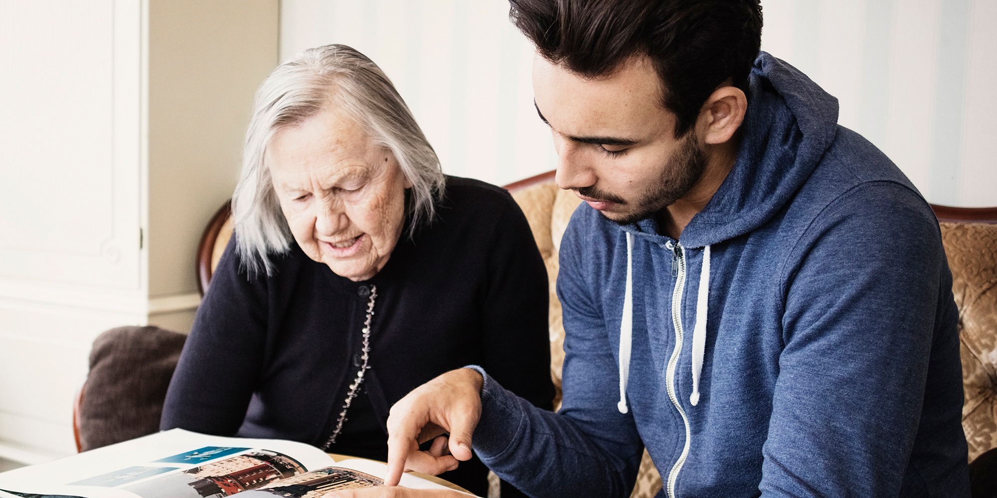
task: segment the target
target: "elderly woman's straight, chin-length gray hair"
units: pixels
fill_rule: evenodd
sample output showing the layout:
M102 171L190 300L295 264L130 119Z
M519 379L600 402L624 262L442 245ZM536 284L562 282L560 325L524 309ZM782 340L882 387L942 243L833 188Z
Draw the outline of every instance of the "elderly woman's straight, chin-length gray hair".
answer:
M433 219L446 177L440 159L405 101L376 64L345 45L302 52L270 73L253 105L242 150L242 172L232 195L237 250L250 275L272 270L269 256L293 240L265 163L266 147L281 129L336 106L388 148L412 183L409 233Z

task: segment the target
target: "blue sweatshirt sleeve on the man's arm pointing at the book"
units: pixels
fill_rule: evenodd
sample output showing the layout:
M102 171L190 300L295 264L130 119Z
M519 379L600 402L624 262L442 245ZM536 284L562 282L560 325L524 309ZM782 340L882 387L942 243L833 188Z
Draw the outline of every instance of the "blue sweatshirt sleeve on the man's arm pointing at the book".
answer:
M584 279L583 237L574 218L561 242L557 278L566 334L562 407L557 413L535 408L485 375L474 445L499 477L530 496L624 497L643 445L632 416L616 409L615 350Z

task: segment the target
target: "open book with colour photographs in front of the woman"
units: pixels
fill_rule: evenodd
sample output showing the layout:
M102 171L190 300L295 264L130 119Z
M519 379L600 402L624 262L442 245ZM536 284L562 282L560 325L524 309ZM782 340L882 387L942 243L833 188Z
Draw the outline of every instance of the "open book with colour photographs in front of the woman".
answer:
M0 498L313 498L381 485L386 473L383 463L334 462L304 443L172 429L0 473ZM401 484L447 489L411 474Z

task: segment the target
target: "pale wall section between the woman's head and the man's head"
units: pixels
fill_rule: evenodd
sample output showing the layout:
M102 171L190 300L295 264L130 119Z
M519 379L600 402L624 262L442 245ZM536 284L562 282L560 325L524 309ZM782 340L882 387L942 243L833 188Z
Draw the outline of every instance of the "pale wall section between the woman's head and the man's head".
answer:
M553 169L532 48L504 0L284 0L280 54L349 45L394 82L444 171L504 184Z

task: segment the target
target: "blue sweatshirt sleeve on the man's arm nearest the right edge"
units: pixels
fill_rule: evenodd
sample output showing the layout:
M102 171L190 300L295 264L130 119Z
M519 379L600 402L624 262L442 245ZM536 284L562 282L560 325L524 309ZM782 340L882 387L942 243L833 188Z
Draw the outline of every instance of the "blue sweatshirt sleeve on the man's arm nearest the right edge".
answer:
M895 497L915 437L938 436L917 433L922 416L958 420L937 411L962 406L958 337L937 327L953 320L937 222L906 187L866 183L790 254L762 496ZM925 399L929 370L948 399Z

